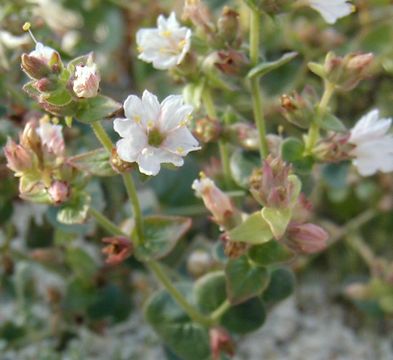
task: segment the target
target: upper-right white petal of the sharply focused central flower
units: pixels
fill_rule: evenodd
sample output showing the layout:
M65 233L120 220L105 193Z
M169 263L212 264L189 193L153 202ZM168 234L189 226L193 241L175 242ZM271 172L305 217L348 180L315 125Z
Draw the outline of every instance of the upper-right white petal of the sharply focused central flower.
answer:
M192 110L191 105L184 105L182 95L168 96L161 104L160 129L167 132L186 123Z

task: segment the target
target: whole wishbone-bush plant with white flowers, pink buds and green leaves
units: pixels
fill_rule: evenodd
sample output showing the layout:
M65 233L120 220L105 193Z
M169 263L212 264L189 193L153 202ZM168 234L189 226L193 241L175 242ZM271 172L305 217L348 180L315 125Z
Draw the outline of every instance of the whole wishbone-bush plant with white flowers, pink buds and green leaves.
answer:
M66 64L58 51L34 38L29 23L24 26L36 44L21 57L30 79L23 89L46 115L29 121L19 141L9 139L4 148L7 165L19 178L19 195L56 207L59 223L93 218L108 235L102 239L107 264L119 266L133 256L155 275L162 289L146 301L144 316L181 359L234 355L237 334L261 327L266 311L292 293L290 265L333 241L309 199L310 174L318 181L315 170L321 164L351 162L364 177L393 171L391 119L374 109L347 129L330 105L336 93L349 93L370 77L376 66L372 53L329 52L322 63L312 59L308 69L315 74L314 83L282 94L279 106L287 122L274 133L269 126L261 79L303 54L291 51L289 43L288 52L267 59L261 22L280 24L282 14L303 7L316 10L329 24L355 11L346 0L245 0L217 15L207 3L186 0L182 24L171 12L160 15L155 27L136 33L138 58L167 71L183 94L168 93L160 101L146 89L141 96L129 95L123 104L101 93L94 54ZM312 86L316 79L323 85L321 94ZM252 119L233 100L236 93L246 94ZM102 146L70 154L63 129L75 122L90 126ZM115 143L103 122L113 125ZM297 136L286 135L287 128ZM185 157L205 148L220 161L202 171L192 188L220 234L212 255L216 265L196 280L189 276L176 282L163 259L190 231L192 219L145 215L134 180L159 179L161 167L176 171ZM132 221L124 219L125 226L94 208L88 188L95 177L116 176L122 178L132 205ZM176 178L181 181L181 176ZM352 245L367 253L361 241ZM392 266L373 259L369 265L377 269L374 280L353 285L348 294L376 299L391 313ZM193 264L190 269L200 270Z

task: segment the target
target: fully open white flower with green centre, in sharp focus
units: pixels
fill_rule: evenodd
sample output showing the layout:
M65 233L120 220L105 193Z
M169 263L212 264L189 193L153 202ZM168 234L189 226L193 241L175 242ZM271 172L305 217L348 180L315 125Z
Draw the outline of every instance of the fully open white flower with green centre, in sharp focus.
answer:
M146 175L157 175L161 163L182 166L182 156L200 149L186 127L192 110L180 95L168 96L161 104L147 90L142 99L130 95L124 102L126 119L114 121L123 138L116 144L120 159L137 162Z

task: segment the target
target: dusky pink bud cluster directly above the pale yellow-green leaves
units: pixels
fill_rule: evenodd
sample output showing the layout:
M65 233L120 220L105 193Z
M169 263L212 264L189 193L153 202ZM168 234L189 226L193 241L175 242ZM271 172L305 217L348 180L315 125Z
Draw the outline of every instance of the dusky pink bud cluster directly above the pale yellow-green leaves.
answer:
M251 175L251 194L263 206L288 208L296 190L289 179L291 172L291 166L281 158L269 155L262 168L256 169Z

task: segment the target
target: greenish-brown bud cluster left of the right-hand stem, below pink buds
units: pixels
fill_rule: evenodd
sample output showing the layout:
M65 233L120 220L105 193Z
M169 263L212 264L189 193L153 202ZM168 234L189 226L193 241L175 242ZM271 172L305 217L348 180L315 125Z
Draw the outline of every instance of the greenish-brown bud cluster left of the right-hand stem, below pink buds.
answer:
M293 93L281 96L283 115L292 124L308 129L315 119L315 104L318 102L312 87L306 87L302 94Z

